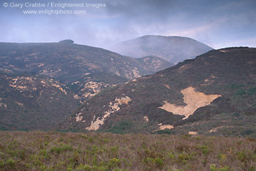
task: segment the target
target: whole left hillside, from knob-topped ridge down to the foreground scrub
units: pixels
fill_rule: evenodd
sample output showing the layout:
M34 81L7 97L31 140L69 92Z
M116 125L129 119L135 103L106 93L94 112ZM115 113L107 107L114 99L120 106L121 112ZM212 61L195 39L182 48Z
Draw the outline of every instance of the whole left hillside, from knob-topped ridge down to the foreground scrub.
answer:
M73 43L0 43L0 130L49 130L100 91L167 68Z

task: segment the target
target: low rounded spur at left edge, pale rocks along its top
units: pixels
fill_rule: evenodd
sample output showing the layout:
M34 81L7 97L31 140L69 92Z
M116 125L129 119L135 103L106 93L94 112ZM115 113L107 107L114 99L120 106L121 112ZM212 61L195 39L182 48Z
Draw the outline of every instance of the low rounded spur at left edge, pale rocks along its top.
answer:
M0 130L48 130L78 108L75 93L46 76L0 71Z

